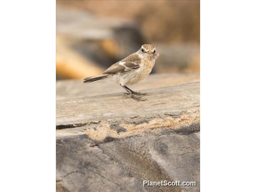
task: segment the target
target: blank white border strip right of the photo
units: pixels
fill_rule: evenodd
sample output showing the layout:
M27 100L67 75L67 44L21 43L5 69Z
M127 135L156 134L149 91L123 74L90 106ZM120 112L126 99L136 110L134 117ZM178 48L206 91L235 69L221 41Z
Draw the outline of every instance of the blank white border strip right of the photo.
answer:
M201 1L201 191L255 190L254 1Z

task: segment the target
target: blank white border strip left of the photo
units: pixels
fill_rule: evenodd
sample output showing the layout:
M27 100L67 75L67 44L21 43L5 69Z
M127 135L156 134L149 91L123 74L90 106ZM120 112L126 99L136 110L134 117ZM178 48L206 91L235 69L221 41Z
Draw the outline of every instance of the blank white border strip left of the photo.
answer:
M55 1L0 6L0 191L55 191Z

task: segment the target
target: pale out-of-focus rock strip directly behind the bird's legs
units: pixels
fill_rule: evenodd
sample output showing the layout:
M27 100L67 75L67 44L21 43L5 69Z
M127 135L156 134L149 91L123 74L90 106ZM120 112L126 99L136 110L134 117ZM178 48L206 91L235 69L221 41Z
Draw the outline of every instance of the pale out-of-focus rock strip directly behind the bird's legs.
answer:
M151 74L143 82L131 86L131 89L150 89L168 87L187 82L199 82L200 73ZM82 80L65 80L56 83L56 99L69 99L84 96L96 96L125 91L122 87L107 79L90 84Z

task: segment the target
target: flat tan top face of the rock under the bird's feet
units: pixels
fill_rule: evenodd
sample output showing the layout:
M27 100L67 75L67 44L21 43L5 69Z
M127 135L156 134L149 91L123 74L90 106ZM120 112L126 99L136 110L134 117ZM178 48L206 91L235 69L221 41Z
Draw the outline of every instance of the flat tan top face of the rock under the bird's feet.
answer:
M58 100L57 128L78 127L102 120L134 118L145 115L183 113L199 110L200 83L142 90L148 101L134 101L123 93ZM171 116L171 115L170 115Z

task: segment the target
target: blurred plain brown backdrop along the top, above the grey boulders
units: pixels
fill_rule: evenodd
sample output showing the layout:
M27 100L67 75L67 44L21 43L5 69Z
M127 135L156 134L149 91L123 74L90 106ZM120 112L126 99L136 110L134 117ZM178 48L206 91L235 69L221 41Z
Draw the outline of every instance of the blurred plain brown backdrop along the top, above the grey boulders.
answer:
M137 21L146 41L200 42L200 0L57 1L57 6L86 10L107 18Z

